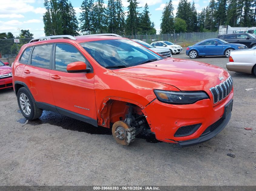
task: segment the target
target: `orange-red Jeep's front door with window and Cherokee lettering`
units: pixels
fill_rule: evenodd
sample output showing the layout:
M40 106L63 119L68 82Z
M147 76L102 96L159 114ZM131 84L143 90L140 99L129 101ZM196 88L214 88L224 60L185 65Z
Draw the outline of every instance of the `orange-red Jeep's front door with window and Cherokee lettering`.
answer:
M68 43L56 43L54 46L53 67L50 72L50 83L59 113L70 115L81 114L93 119L96 117L94 93L94 74L68 73L67 65L72 62L89 62L82 53Z

